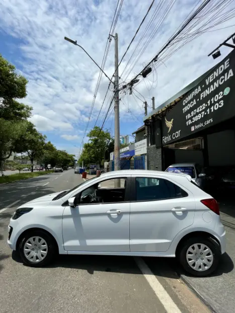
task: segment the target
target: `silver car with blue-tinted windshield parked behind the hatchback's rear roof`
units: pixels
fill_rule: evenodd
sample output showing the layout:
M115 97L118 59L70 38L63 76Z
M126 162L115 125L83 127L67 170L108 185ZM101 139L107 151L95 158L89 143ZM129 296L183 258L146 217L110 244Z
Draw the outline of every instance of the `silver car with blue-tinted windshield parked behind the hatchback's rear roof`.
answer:
M205 185L205 173L201 173L202 168L196 163L178 163L170 165L165 172L169 173L184 173L192 177L192 181L199 187Z

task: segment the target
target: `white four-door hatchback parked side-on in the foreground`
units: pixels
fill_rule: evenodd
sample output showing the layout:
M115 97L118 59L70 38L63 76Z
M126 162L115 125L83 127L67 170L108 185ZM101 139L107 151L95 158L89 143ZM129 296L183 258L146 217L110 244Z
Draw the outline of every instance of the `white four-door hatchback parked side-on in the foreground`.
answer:
M117 171L21 205L8 244L25 264L59 254L177 257L197 276L225 252L217 202L185 174Z

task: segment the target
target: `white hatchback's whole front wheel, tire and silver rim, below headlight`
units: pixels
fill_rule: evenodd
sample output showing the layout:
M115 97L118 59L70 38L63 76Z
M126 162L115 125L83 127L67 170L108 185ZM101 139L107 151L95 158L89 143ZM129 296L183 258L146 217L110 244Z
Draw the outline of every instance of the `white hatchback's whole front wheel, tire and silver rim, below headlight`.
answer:
M25 234L19 245L24 264L41 267L49 264L56 253L53 238L44 230L32 230Z

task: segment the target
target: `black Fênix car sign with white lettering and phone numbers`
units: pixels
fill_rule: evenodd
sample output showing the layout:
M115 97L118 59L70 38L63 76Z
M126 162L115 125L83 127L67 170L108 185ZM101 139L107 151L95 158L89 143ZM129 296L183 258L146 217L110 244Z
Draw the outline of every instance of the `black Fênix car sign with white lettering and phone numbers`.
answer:
M234 74L232 51L163 119L163 145L235 116Z

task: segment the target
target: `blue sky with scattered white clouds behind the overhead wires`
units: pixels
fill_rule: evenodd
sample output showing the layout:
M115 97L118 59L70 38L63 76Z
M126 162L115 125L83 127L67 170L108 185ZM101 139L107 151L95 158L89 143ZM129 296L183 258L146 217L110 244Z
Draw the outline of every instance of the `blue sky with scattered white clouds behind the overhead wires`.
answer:
M211 3L216 1L218 2L214 0ZM123 0L114 30L114 33L118 33L119 60L151 2L152 0ZM234 0L226 2L225 11L235 8ZM164 4L162 0L155 0L119 66L119 83L128 83L139 73L174 34L195 5L201 3L203 0L166 0ZM100 71L80 47L65 41L64 36L77 40L101 65L116 6L117 0L1 1L0 53L29 81L27 98L20 101L33 107L30 120L38 131L45 134L56 148L65 149L69 153L79 153L84 136L84 142L88 141L85 134L87 127L89 132L95 124L103 124L113 88L111 86L108 90L109 81L103 75L89 121ZM171 10L159 25L167 8ZM153 19L155 9L159 10ZM221 12L220 8L220 14ZM208 19L212 21L214 16L212 14ZM149 21L152 24L144 32ZM148 46L143 49L144 41L156 26L158 29L152 33ZM155 98L155 107L160 106L225 57L231 51L228 47L220 49L221 57L216 60L207 55L234 31L235 18L231 16L229 20L185 44L168 60L164 61L162 57L147 78L134 86L131 95L129 92L120 93L120 134L131 135L143 124L144 101L147 102L150 113L152 97ZM143 41L135 49L141 38ZM131 62L127 63L131 56ZM133 66L129 67L131 64ZM110 78L114 74L114 39L110 43L104 71ZM114 135L113 105L104 129Z

